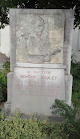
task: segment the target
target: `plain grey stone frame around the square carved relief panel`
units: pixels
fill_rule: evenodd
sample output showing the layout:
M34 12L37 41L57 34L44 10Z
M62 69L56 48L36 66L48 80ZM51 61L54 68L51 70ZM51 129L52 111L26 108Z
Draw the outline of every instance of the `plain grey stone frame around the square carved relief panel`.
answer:
M16 39L17 19L16 18L17 18L17 16L19 16L21 14L22 15L24 15L24 14L25 15L27 15L27 14L48 15L48 17L50 15L53 15L53 17L54 17L54 15L56 15L56 14L58 14L58 15L64 14L63 56L61 55L61 53L58 53L57 55L55 55L55 59L57 57L58 60L53 59L53 61L52 61L52 58L51 58L50 63L56 63L56 61L59 61L59 63L60 63L60 61L61 61L60 59L62 59L62 57L63 57L63 64L66 65L66 74L70 74L74 11L68 10L68 9L10 9L10 46L11 46L10 71L14 71L14 64L16 63L16 47L17 47L17 39ZM23 51L23 49L21 49L21 51ZM19 53L21 53L21 51ZM24 54L25 54L25 52L24 52ZM24 57L26 57L26 54L24 55ZM21 57L21 58L23 59L23 57ZM25 59L23 59L23 61L24 60ZM32 60L32 57L31 57L31 60ZM39 60L39 58L38 58L38 60ZM35 62L35 63L38 63L38 62Z

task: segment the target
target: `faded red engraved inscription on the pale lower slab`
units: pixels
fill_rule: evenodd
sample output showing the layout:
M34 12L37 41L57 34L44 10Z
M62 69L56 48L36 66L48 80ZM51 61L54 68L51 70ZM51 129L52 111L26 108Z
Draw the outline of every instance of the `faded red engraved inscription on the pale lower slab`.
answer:
M58 97L62 91L62 87L56 85L58 76L50 70L28 70L26 74L20 74L19 78L25 81L23 84L16 83L15 87L20 95Z

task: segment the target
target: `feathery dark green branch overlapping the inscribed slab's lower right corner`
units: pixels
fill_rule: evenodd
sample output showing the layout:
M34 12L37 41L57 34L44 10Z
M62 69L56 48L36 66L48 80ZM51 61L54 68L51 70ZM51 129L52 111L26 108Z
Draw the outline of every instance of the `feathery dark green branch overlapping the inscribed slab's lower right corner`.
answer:
M68 104L66 104L63 100L55 100L55 104L50 107L50 109L57 108L52 114L56 114L59 112L59 115L62 116L66 122L73 123L75 120L75 116L77 113L77 109L72 109Z

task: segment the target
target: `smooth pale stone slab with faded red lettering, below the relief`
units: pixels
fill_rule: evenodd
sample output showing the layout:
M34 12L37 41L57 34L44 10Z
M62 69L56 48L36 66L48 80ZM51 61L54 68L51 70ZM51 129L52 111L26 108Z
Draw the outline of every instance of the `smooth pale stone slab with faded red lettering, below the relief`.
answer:
M64 69L14 67L11 113L51 116L55 98L65 100Z

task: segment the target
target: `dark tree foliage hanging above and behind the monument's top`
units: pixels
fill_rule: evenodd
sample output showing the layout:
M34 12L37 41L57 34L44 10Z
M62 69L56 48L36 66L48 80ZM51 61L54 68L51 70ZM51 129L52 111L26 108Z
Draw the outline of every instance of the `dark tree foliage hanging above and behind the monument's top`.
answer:
M9 24L9 8L74 9L74 28L80 29L80 0L0 0L0 28Z

